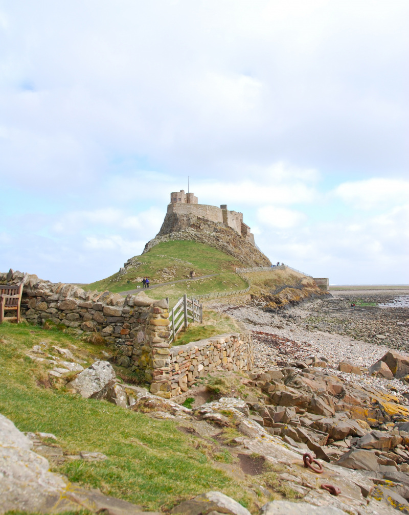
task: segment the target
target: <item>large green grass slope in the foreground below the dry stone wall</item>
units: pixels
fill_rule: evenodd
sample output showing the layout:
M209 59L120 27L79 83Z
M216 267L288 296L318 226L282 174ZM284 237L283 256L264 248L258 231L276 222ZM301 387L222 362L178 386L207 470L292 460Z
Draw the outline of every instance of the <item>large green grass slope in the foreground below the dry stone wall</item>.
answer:
M53 471L149 510L167 510L210 490L246 505L248 497L240 485L213 467L206 452L196 448L194 437L178 431L175 422L82 399L64 387L37 386L47 366L31 361L25 352L40 342L70 348L88 363L102 349L58 331L0 325L0 413L21 431L54 433L66 453L99 451L109 457L102 462L64 462Z

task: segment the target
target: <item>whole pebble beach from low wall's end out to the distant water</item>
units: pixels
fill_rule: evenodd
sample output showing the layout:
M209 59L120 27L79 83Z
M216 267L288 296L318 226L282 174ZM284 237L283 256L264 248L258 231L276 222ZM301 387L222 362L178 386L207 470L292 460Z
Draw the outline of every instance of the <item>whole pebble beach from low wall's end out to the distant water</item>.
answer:
M368 368L391 348L409 356L407 290L343 290L332 294L332 299L305 302L277 313L265 312L261 305L254 304L213 303L207 307L229 314L252 331L256 367L274 368L317 356L325 358L331 373L346 381L393 388L401 393L409 391L405 383L396 379L375 379L365 370L362 376L337 370L340 361ZM364 305L351 310L351 303ZM318 329L321 327L331 331ZM333 331L337 328L346 334Z

